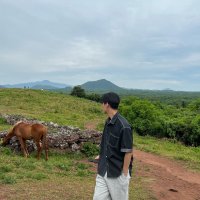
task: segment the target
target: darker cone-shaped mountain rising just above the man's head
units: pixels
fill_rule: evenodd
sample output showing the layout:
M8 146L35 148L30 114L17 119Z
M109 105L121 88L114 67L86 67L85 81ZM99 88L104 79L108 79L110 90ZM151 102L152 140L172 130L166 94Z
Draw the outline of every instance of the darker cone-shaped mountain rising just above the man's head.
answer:
M106 80L106 79L101 79L97 81L88 81L84 84L81 85L81 87L90 92L122 92L125 91L126 89L121 88L114 83Z

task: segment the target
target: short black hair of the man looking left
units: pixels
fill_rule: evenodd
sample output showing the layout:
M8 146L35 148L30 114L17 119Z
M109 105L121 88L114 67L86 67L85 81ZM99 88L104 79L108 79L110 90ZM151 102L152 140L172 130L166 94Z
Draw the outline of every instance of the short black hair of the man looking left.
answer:
M120 103L119 95L114 92L108 92L102 96L101 103L108 103L111 108L118 109Z

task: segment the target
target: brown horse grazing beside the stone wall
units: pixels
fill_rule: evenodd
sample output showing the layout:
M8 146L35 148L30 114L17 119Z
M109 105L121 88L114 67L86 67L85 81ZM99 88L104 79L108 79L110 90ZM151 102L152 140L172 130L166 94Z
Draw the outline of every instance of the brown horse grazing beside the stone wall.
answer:
M46 160L48 160L47 128L42 124L16 123L3 139L2 145L8 144L9 140L16 136L20 142L22 153L25 157L29 155L26 148L26 140L33 139L37 146L37 159L40 159L42 148L45 149ZM42 142L42 144L41 144Z

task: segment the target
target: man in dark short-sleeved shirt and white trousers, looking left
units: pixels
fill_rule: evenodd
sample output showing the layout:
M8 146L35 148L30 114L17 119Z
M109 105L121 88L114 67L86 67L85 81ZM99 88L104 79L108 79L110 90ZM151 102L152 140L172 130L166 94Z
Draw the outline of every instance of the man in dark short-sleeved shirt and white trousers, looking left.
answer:
M120 98L116 93L102 97L102 108L108 115L100 144L98 174L93 200L128 200L132 168L132 129L118 112Z

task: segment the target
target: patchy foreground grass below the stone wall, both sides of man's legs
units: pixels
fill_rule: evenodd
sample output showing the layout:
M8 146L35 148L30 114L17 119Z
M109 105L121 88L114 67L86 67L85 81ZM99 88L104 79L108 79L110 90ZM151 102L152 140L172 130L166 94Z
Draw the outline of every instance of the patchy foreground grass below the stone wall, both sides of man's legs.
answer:
M5 199L92 199L96 171L85 163L83 154L51 150L48 161L44 155L38 161L35 153L26 159L21 154L7 154L6 149L0 148L0 185ZM154 199L144 184L145 180L133 176L130 200Z

